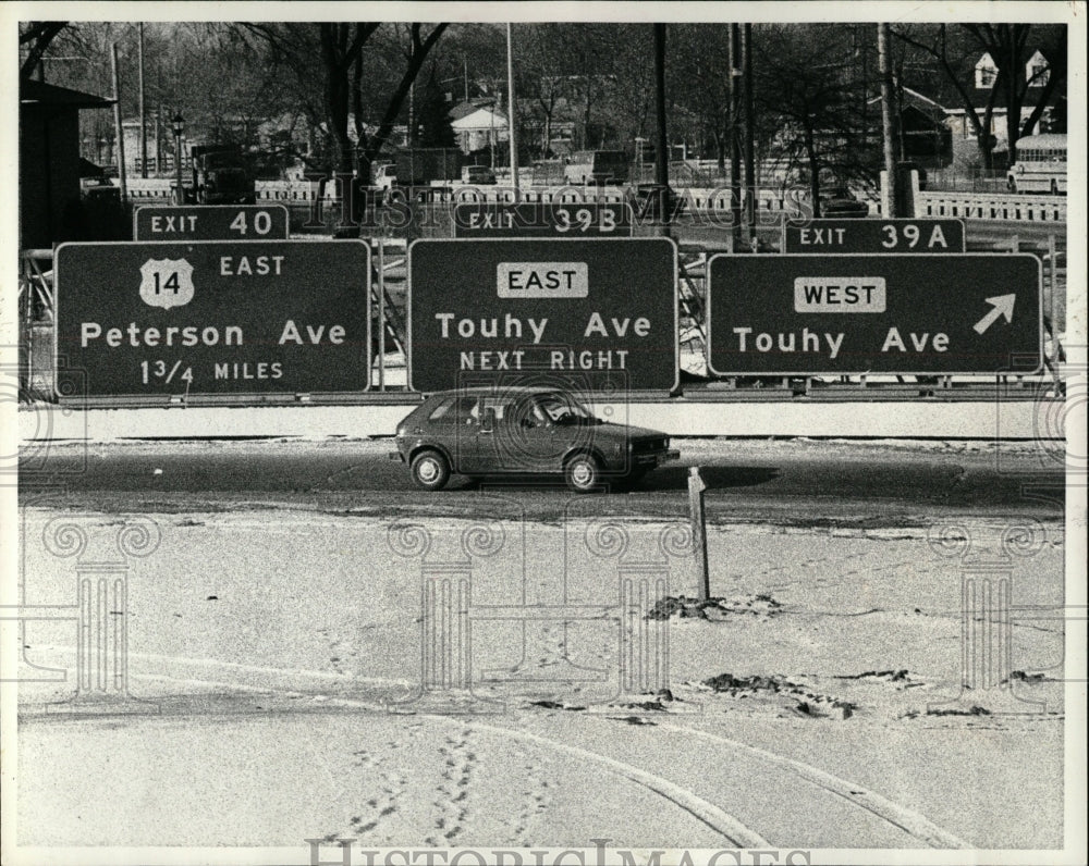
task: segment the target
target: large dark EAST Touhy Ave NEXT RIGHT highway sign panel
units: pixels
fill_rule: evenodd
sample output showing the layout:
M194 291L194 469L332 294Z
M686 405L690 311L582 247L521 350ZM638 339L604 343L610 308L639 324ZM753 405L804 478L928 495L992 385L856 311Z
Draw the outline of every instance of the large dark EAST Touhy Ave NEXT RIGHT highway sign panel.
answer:
M585 375L595 387L678 380L669 238L417 240L408 250L408 383Z

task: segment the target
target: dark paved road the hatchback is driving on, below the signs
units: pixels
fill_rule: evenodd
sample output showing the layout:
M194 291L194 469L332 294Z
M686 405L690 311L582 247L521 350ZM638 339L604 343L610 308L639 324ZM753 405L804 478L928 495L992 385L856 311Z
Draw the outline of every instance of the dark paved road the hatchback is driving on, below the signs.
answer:
M609 511L676 516L687 509L689 466L709 490L711 519L918 520L950 509L1057 515L1047 496L1062 475L1032 444L993 446L795 441L676 440L680 463L635 488L602 496ZM481 488L519 499L548 518L570 494L549 477L454 477L445 491L416 490L407 469L389 458L392 441L159 442L68 445L48 455L47 470L22 479L24 502L103 510L188 511L238 503L276 503L333 511L457 514ZM1050 491L1044 499L1033 491Z

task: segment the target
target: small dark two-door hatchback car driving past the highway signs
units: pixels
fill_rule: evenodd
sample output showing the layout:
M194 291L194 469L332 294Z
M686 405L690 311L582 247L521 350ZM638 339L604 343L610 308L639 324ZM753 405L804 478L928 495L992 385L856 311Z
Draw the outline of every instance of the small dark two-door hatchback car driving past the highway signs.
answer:
M441 490L452 472L481 477L562 473L577 493L635 482L680 451L664 433L601 421L563 391L465 388L432 394L396 432L392 459L413 481Z

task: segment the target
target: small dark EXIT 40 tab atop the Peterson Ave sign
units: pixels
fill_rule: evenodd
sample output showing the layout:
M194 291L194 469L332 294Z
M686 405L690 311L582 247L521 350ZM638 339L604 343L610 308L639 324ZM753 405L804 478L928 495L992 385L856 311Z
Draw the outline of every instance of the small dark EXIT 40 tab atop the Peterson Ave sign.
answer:
M283 205L145 206L133 214L136 240L286 240Z

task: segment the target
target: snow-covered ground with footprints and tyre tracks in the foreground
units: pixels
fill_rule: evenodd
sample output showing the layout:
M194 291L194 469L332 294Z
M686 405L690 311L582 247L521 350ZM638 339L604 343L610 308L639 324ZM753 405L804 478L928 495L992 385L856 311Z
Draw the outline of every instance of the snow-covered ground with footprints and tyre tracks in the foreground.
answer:
M41 543L59 514L24 511L27 603L73 602L73 560ZM1062 844L1057 521L1030 521L1031 536L971 517L718 524L723 601L633 626L616 613L625 576L668 570L663 594L696 594L690 554L666 557L650 520L611 519L619 554L589 508L561 523L417 520L431 546L413 558L391 547L392 518L151 517L162 541L133 560L127 619L130 690L148 702L129 708L154 712L49 712L74 691L74 628L29 623L27 659L69 675L20 686L20 844ZM91 516L87 532L122 520ZM435 621L424 590L473 525L503 543L469 560L470 607L507 618L472 620L469 690L415 701ZM940 555L964 539L969 558ZM962 640L963 581L980 562L1012 581L1010 660L992 658L993 688L962 693L965 646L975 660L1001 648L1001 629ZM564 601L599 615L510 618ZM661 655L625 656L656 629Z

